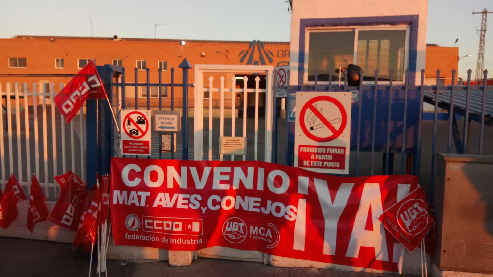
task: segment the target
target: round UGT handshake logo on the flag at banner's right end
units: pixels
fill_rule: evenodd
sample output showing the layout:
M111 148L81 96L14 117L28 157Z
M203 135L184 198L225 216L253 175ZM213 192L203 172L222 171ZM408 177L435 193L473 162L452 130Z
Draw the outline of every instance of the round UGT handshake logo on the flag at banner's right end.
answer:
M416 236L428 226L426 203L421 199L408 200L397 211L397 223L409 235Z

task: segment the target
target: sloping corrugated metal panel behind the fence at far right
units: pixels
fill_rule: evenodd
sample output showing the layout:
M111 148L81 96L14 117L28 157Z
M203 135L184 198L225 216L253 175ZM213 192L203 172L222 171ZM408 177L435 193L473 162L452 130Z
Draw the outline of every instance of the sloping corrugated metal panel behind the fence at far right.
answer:
M454 106L465 110L467 91L454 92ZM435 99L434 90L425 90L424 97ZM451 91L440 90L438 101L450 105ZM471 90L469 94L469 111L481 116L483 109L483 91ZM493 91L486 92L485 116L493 116Z

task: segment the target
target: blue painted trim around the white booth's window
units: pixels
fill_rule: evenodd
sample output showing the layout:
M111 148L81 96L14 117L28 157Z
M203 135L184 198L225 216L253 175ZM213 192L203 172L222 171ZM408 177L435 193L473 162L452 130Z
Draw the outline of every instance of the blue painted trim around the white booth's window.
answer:
M401 23L411 25L411 33L409 36L409 84L414 86L416 83L417 73L416 62L418 55L419 15L300 19L298 85L303 85L303 69L305 66L305 32L307 27L398 25Z

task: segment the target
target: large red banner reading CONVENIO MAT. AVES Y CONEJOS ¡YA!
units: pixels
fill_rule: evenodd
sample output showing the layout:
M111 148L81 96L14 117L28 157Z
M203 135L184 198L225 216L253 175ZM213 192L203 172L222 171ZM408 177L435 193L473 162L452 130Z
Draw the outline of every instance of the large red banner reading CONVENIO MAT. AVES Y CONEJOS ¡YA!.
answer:
M349 178L256 161L113 158L111 223L117 245L226 246L397 271L402 246L378 217L416 187L409 175Z

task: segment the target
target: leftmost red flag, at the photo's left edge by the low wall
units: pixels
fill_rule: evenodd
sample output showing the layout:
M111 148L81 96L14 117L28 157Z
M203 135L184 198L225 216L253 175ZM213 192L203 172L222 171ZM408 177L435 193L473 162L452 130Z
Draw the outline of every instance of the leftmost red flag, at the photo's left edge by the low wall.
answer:
M17 218L17 202L28 200L14 174L10 175L0 200L0 227L6 229Z

